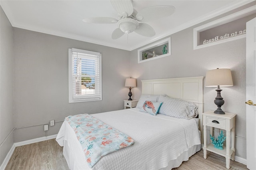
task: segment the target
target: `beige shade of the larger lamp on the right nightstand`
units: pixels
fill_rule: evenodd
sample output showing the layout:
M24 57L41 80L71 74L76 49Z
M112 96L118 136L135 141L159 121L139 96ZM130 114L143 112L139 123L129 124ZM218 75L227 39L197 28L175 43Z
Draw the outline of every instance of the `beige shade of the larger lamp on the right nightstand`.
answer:
M214 69L206 72L205 87L233 86L230 69Z

